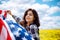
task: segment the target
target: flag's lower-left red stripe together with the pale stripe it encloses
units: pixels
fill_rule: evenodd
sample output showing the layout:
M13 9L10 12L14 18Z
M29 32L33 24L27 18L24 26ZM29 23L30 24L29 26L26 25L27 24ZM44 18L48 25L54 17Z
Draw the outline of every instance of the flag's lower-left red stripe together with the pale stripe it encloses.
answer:
M8 29L2 19L0 19L0 40L11 40Z

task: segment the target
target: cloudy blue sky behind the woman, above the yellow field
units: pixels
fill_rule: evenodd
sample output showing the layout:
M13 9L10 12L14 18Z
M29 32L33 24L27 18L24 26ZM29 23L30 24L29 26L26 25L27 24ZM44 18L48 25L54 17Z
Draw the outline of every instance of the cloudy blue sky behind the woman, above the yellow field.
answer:
M40 29L60 29L60 0L0 0L0 10L11 10L21 19L29 8L38 12Z

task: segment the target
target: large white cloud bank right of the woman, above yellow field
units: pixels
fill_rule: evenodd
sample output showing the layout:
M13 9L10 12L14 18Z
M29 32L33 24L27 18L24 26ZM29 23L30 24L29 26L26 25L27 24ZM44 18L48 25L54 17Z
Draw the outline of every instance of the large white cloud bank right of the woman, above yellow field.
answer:
M40 29L60 29L60 16L49 16L60 11L58 6L50 7L42 17Z

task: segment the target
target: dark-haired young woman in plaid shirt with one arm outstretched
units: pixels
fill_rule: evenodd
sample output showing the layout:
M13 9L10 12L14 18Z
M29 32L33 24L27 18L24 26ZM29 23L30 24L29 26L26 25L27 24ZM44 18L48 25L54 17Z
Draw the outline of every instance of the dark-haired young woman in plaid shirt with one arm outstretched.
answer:
M7 11L19 24L21 24L28 33L32 35L35 40L39 40L38 27L40 26L39 17L34 9L28 9L25 11L23 21L20 22L20 18L11 14L11 11Z

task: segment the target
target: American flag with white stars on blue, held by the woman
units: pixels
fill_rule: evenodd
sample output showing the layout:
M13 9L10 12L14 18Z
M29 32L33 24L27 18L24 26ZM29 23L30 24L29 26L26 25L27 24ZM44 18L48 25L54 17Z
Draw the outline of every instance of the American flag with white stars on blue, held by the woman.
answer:
M34 40L25 28L14 20L3 20L5 17L0 17L0 40Z

